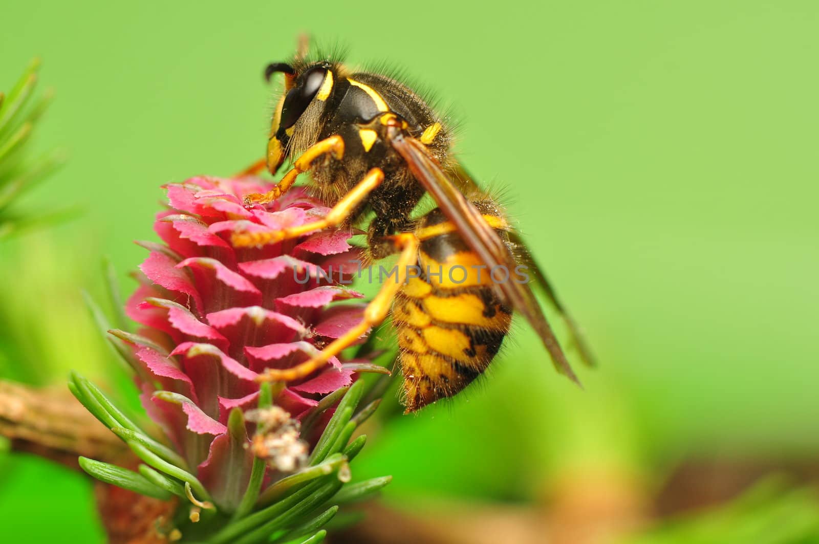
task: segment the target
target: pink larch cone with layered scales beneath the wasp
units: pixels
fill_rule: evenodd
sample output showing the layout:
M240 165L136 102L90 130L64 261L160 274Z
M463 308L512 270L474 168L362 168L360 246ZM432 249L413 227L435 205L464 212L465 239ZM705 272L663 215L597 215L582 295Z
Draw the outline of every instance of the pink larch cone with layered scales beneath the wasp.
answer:
M349 230L265 247L231 245L233 232L296 226L328 211L301 188L266 207L242 206L245 194L269 187L259 179L204 177L167 185L169 209L154 226L164 244L141 243L151 253L126 309L142 329L118 333L133 348L148 414L227 510L241 499L254 451L247 443L241 452L235 444L231 449L230 411L256 408L262 371L309 359L356 324L363 309L334 304L361 295L319 275L332 267L337 282L357 270L360 250L346 242ZM306 379L287 383L274 405L301 419L354 377L353 367L333 357ZM301 437L305 447L322 425ZM233 459L226 474L226 459L237 454L241 461ZM268 469L268 481L275 471Z

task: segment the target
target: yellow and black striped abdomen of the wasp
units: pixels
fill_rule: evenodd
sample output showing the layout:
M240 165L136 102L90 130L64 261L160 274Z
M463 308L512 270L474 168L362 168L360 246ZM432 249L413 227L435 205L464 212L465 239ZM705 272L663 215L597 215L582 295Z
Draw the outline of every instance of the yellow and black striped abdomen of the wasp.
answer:
M490 270L440 211L424 218L416 236L420 274L409 279L392 311L407 412L452 397L477 378L500 350L512 319L495 295Z

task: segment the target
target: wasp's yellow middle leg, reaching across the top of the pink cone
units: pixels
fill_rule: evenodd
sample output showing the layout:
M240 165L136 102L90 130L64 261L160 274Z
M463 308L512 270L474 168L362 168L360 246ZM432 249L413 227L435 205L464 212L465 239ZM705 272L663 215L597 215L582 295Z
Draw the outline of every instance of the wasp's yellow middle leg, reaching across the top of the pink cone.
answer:
M282 240L298 238L302 234L312 233L316 230L337 227L342 224L359 206L364 198L384 180L384 171L380 168L369 170L364 178L346 193L344 197L333 206L324 219L312 221L311 223L300 224L297 227L288 227L279 230L264 230L260 232L239 232L231 235L230 241L233 247L264 246L269 243L278 243Z

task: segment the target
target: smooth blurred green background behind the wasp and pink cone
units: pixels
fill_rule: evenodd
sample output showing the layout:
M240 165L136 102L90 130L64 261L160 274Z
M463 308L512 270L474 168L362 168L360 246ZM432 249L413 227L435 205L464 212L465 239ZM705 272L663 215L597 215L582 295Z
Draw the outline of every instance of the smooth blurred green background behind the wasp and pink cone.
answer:
M7 2L0 88L42 57L57 100L36 147L70 152L24 204L83 213L0 245L0 373L111 379L80 289L102 297L103 255L133 288L159 185L261 156L261 70L307 31L452 105L459 156L507 187L600 358L581 391L518 323L481 384L382 422L354 470L395 476L387 504L542 501L572 474L650 496L686 460L815 462L817 25L810 1ZM4 534L101 542L83 478L0 463Z

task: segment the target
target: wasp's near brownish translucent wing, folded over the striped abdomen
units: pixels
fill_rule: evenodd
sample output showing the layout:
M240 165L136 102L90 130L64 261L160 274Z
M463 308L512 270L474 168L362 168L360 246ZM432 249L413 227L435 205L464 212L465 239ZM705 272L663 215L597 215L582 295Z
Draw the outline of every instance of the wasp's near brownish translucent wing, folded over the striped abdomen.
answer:
M427 147L417 139L405 134L397 134L391 138L391 144L404 158L415 179L418 179L423 188L432 195L444 214L455 224L464 242L472 248L473 252L477 253L483 263L490 270L494 266L505 266L510 272L514 270L517 263L509 252L509 248L486 223L475 206L455 187L441 169L438 161L429 153ZM509 304L523 314L523 317L540 335L555 368L579 384L580 381L568 364L563 349L554 336L549 322L546 321L541 306L538 305L529 285L509 280L505 283L498 283L497 286Z

